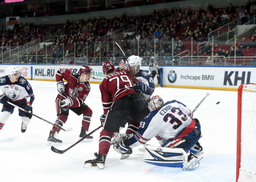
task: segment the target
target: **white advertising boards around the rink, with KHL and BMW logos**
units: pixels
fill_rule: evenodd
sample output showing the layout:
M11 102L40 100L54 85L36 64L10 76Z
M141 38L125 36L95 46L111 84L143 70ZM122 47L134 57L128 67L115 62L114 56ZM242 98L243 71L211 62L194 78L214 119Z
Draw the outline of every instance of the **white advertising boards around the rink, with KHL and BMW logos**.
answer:
M0 77L6 75L6 68L1 65ZM59 68L79 72L81 65L14 65L19 68L21 75L28 80L55 81ZM101 65L89 65L94 71L95 78L104 78ZM117 67L117 66L116 66ZM256 83L255 67L219 67L219 66L160 66L163 87L194 88L211 90L237 91L241 84ZM142 66L142 70L149 70ZM90 83L100 83L91 78ZM157 85L157 79L154 79Z

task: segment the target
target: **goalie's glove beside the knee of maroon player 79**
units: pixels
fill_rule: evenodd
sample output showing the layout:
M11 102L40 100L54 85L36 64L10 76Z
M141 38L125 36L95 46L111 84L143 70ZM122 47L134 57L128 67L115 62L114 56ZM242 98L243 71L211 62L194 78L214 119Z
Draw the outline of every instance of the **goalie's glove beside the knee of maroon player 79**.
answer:
M116 136L112 141L114 150L116 150L118 153L121 153L121 154L126 154L126 153L131 154L132 148L126 145L126 142L129 138L131 138L129 134L122 134L122 133L116 134Z

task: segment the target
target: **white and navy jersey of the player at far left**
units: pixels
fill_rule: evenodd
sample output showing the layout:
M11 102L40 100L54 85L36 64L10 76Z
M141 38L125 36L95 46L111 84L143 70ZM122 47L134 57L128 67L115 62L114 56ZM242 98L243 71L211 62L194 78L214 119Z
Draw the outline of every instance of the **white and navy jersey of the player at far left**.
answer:
M15 83L10 82L10 78L7 76L0 78L0 89L10 100L19 102L24 99L30 104L33 103L35 96L31 85L24 77L20 76Z

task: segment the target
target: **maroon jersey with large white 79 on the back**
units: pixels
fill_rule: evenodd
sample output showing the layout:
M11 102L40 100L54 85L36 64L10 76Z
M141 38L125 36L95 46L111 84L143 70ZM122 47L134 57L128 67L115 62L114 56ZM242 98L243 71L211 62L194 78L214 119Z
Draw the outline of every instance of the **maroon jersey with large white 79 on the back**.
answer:
M136 82L139 81L136 79ZM114 72L104 78L100 83L104 114L107 114L111 109L114 100L120 99L125 95L138 94L138 92L131 88L133 84L134 81L131 74L125 71Z

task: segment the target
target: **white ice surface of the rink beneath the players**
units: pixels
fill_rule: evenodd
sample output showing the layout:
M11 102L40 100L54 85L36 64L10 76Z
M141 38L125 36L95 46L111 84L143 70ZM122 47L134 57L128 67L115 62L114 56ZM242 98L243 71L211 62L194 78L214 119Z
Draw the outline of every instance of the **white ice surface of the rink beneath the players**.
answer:
M35 94L33 114L55 122L56 82L29 81ZM219 90L197 90L185 88L156 88L153 95L164 101L178 100L191 110L209 92L210 95L194 112L202 127L204 158L197 169L183 171L182 168L159 167L143 161L143 146L133 148L133 154L120 159L113 148L107 155L103 170L83 168L86 160L93 159L98 151L100 130L92 134L91 143L80 142L64 154L57 154L47 146L52 125L32 117L26 133L21 133L21 117L18 109L10 116L0 132L0 181L20 182L80 182L80 181L168 181L168 182L234 182L236 164L237 92ZM2 94L2 93L1 93ZM220 102L220 104L216 104ZM85 103L92 109L90 131L100 126L103 114L99 84L91 84L91 91ZM1 105L2 107L2 105ZM59 139L64 150L79 140L82 116L72 111ZM125 133L125 129L121 130ZM148 144L159 146L152 138Z

